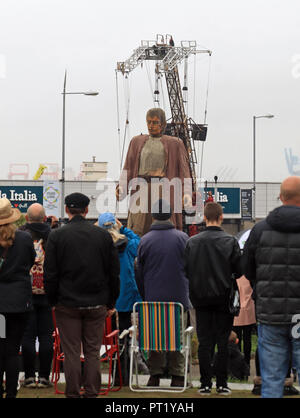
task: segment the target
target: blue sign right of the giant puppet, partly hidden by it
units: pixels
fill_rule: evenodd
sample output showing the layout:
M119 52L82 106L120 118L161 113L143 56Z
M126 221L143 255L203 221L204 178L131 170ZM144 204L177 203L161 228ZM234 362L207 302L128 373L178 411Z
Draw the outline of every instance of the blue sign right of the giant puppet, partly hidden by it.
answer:
M207 187L204 189L207 192L212 192L213 196L215 189L213 187ZM236 187L218 187L217 188L217 202L223 208L224 214L239 215L241 213L241 190ZM215 196L214 196L214 201Z

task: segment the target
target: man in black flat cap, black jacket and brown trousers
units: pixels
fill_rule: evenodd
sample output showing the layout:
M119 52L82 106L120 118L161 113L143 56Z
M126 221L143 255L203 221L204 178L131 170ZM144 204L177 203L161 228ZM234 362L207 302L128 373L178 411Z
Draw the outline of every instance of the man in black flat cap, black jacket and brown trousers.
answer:
M44 264L45 290L55 306L65 354L66 397L97 397L101 386L99 352L105 317L120 289L120 264L111 235L88 222L89 198L65 198L69 222L50 233ZM85 358L81 376L81 344Z

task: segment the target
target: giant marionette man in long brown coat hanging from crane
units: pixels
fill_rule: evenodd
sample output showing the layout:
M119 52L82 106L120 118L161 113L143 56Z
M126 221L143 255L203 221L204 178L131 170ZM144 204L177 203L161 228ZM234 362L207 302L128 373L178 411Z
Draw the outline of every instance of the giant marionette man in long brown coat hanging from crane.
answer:
M181 139L164 135L166 115L162 109L150 109L146 115L149 135L130 141L117 200L130 193L128 228L143 236L152 224L151 208L159 198L168 200L171 221L182 229L182 211L191 206L192 179L188 154Z

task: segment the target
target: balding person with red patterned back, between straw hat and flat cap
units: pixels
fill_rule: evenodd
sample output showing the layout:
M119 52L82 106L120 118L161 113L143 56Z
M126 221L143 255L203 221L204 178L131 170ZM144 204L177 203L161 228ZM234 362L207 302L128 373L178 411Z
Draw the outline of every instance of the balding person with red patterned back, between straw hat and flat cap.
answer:
M29 314L28 324L22 341L24 363L24 387L47 388L53 357L53 321L51 307L44 290L44 257L50 224L46 222L45 209L39 203L29 206L26 214L27 223L20 229L28 232L34 240L36 259L31 269L33 311ZM38 339L39 377L36 381L36 339Z

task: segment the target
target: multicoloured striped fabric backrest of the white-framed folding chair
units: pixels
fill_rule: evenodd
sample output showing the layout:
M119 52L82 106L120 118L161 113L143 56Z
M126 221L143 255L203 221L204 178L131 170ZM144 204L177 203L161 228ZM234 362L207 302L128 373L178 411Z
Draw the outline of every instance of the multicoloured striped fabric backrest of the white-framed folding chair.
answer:
M144 351L180 351L182 307L178 303L141 302L138 313L139 347Z

